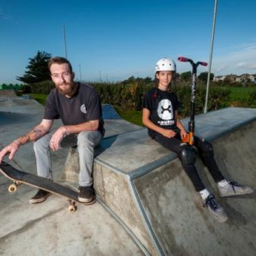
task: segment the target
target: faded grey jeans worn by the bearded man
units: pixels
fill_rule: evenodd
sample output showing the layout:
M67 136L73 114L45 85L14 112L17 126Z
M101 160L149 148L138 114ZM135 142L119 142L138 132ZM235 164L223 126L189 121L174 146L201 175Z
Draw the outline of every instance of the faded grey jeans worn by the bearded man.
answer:
M53 132L47 133L45 136L34 142L34 151L36 158L36 166L38 175L44 178L53 179L53 170L50 157L50 138ZM71 134L62 139L61 148L78 146L79 155L79 185L81 187L93 184L93 159L94 148L99 145L102 134L99 131L84 131L77 134Z

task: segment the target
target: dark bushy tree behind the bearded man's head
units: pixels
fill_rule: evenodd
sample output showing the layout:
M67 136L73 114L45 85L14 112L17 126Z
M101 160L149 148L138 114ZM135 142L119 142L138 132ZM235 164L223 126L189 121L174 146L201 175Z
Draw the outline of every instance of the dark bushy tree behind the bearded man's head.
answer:
M48 70L48 60L50 57L50 53L38 50L34 58L29 58L29 65L26 66L27 71L23 77L17 77L17 80L25 84L35 84L50 80L50 72Z

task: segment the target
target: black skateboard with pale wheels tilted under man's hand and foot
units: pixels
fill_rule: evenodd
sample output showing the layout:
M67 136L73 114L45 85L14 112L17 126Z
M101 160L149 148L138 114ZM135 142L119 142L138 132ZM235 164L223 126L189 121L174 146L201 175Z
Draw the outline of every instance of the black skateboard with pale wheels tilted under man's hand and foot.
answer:
M8 163L2 161L0 163L0 172L5 175L7 178L14 181L14 184L11 184L8 187L8 191L10 193L14 193L17 190L17 187L20 184L27 184L32 187L37 187L42 190L47 190L52 194L56 194L59 196L66 197L69 202L69 212L75 212L78 208L76 206L77 203L81 203L84 205L92 205L96 202L96 197L93 196L93 200L90 203L83 203L78 200L78 192L72 190L69 187L62 186L54 181L51 181L48 178L43 178L38 175L34 175L28 172L22 172Z

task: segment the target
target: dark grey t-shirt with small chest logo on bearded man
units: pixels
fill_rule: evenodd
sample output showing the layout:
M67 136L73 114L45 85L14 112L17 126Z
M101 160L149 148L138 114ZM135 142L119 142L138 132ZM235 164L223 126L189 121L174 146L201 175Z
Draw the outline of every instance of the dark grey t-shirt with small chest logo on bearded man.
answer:
M98 130L104 134L102 105L96 90L89 84L78 83L74 96L67 98L58 90L53 89L47 97L44 119L61 119L64 125L75 125L99 120Z

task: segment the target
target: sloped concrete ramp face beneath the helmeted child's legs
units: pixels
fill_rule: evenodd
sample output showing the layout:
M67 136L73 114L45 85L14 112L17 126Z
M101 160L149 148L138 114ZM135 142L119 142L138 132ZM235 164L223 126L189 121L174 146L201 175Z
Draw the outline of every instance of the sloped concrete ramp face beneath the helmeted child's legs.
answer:
M227 178L255 187L256 121L213 142ZM252 142L254 140L254 142ZM216 196L217 187L202 163L201 176ZM200 196L178 160L133 180L145 219L166 255L253 255L256 253L255 195L218 199L229 215L218 224L202 207Z

